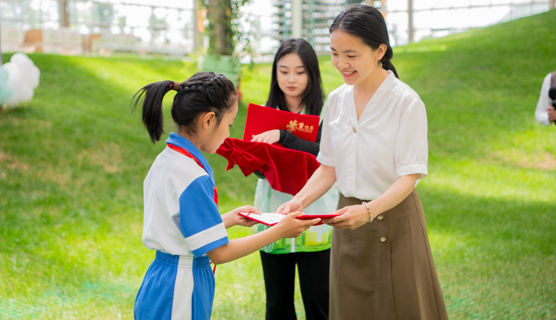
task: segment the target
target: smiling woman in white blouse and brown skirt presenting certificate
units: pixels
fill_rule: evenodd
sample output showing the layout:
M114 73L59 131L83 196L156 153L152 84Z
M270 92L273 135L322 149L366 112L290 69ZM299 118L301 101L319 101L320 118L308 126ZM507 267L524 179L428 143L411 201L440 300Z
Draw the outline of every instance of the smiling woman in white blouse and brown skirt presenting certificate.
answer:
M382 14L342 12L330 27L345 84L330 93L321 166L278 209L302 210L340 191L330 262L330 319L448 319L415 186L427 175L427 115L398 79Z

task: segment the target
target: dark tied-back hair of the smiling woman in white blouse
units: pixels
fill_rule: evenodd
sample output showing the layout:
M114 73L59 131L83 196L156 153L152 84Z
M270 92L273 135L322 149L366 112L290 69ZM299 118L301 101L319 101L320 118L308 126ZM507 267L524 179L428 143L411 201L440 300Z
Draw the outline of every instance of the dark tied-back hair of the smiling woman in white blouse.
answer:
M394 52L390 46L386 22L378 9L366 5L353 6L334 19L330 26L330 33L336 30L358 37L373 50L378 49L384 43L387 48L386 53L380 60L382 68L392 70L396 78L399 79L398 72L390 61Z

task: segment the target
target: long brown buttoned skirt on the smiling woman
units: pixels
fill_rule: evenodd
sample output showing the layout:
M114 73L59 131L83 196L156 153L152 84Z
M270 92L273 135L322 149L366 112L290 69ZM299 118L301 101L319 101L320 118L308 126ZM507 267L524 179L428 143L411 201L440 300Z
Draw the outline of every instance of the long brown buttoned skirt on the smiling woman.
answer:
M361 202L340 195L338 208ZM448 319L416 190L371 223L334 229L330 319Z

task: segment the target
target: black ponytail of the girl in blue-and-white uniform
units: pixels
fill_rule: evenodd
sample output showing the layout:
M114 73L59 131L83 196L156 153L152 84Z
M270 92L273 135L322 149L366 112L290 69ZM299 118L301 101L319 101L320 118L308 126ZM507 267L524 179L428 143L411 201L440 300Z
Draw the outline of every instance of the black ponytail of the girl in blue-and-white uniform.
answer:
M160 136L164 133L162 100L172 89L177 89L174 88L174 81L159 81L144 86L131 99L133 110L135 110L141 97L143 94L145 95L142 118L153 144L160 140Z

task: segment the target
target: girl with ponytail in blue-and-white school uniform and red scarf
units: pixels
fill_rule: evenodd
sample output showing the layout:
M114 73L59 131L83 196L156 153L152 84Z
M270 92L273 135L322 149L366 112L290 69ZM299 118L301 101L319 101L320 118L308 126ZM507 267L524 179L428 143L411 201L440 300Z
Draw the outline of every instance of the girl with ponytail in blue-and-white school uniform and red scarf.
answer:
M139 90L142 118L151 141L163 133L162 100L176 90L172 118L178 126L145 178L143 244L156 250L135 301L135 319L210 319L214 275L210 261L221 264L250 254L281 238L297 237L320 219L288 215L275 227L228 240L226 228L252 226L238 212L220 215L214 175L202 152L214 153L229 137L238 103L234 85L223 75L198 72L179 83L160 81Z

